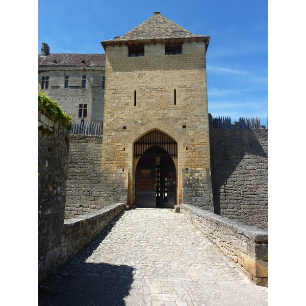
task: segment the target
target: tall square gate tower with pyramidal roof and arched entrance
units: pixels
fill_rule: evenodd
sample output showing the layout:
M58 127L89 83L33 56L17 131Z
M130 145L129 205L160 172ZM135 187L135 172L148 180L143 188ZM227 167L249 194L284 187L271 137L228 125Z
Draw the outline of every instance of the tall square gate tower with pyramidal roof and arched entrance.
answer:
M213 211L206 52L195 35L160 12L106 52L104 184L125 184L127 204Z

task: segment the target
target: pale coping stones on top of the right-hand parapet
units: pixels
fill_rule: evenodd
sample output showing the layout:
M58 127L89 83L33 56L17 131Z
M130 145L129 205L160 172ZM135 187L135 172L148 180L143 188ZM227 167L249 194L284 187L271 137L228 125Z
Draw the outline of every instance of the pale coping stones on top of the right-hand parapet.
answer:
M251 225L245 225L233 219L221 217L212 212L203 210L198 207L194 207L187 204L182 204L181 207L186 211L190 211L194 215L205 218L216 224L231 228L234 233L242 234L246 238L257 243L268 243L268 231L261 230L260 228L253 227Z

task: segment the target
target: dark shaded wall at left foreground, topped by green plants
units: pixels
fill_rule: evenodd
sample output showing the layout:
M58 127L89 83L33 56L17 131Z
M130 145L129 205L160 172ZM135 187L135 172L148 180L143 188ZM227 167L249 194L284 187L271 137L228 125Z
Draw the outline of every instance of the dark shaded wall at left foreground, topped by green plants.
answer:
M68 129L68 130L67 130ZM39 113L38 279L56 269L62 241L68 170L69 127Z

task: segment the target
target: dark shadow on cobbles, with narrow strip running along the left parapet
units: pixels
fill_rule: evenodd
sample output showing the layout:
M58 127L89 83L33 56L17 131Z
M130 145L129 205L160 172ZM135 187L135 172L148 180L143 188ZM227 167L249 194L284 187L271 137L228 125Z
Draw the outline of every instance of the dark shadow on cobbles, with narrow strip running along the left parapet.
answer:
M122 215L118 215L77 257L41 284L39 306L125 305L124 297L129 295L134 268L88 262Z

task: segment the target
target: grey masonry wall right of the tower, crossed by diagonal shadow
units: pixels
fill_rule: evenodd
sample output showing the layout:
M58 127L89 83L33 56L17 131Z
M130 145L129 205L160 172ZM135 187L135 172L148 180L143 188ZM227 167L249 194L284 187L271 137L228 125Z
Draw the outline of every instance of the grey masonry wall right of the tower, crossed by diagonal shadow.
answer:
M268 130L210 130L214 212L268 227Z

